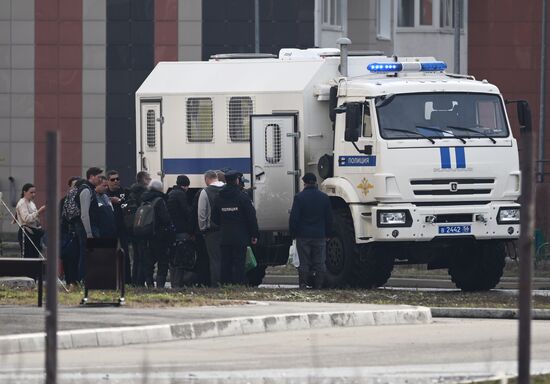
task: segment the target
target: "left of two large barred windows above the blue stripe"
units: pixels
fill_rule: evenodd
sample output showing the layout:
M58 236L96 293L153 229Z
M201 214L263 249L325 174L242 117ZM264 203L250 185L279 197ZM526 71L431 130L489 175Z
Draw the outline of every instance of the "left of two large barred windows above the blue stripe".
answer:
M214 141L212 99L187 99L187 140L191 143Z

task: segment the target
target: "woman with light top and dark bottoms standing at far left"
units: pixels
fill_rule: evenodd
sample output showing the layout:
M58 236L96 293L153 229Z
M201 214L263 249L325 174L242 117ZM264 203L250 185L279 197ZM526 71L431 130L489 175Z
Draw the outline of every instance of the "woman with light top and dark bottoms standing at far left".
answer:
M40 256L39 252L42 251L41 244L44 230L40 225L39 216L46 210L46 206L43 205L36 209L35 196L36 187L33 184L23 185L21 199L15 207L17 221L20 225L17 238L24 258L38 258ZM25 233L23 233L23 230Z

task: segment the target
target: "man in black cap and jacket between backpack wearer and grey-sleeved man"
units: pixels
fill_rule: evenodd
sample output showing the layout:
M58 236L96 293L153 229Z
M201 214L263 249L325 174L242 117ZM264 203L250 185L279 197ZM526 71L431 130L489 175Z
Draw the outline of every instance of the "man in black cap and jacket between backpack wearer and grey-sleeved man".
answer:
M191 245L193 239L193 223L191 219L191 207L187 201L187 190L189 189L189 178L185 175L179 175L176 179L176 185L168 194L168 213L174 224L176 231L176 241L183 246ZM170 281L173 287L183 285L183 269L178 265L177 249L174 248L173 263L170 268Z

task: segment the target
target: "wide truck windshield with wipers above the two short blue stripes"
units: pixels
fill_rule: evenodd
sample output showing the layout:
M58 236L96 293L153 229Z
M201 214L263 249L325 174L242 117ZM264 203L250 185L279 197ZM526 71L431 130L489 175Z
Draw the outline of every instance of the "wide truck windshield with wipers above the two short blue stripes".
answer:
M375 101L380 133L385 139L427 136L490 138L494 142L493 137L508 136L504 108L497 95L412 93L380 96Z

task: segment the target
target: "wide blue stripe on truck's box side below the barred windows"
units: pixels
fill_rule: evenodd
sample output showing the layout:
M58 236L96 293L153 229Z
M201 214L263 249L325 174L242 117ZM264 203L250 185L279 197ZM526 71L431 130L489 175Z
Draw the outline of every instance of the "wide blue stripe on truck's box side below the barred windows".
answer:
M242 173L250 173L250 158L220 157L195 159L164 159L162 169L167 175L202 175L213 169L231 168Z

